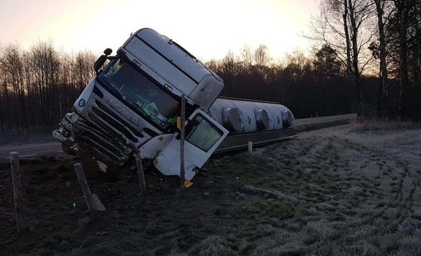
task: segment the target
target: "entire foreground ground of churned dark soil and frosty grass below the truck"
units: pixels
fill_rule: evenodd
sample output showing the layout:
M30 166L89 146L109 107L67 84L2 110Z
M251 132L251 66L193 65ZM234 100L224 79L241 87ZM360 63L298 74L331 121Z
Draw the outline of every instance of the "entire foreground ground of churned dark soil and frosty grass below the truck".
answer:
M10 170L1 166L1 255L421 253L421 130L345 131L220 155L181 191L178 178L148 171L146 198L132 171L83 163L107 208L94 216L73 170L78 161L21 161L23 236L15 234Z

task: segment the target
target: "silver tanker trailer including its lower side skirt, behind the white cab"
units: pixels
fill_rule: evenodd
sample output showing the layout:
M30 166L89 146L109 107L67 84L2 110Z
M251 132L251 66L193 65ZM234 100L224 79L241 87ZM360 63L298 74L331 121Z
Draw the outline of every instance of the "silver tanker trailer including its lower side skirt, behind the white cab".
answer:
M209 115L229 133L215 150L220 153L272 143L297 134L291 110L277 102L219 97Z

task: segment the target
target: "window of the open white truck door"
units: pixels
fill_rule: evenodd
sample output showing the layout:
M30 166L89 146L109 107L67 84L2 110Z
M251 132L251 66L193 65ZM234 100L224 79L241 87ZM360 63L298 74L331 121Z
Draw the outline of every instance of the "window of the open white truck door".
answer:
M186 126L186 140L208 152L224 134L201 114L197 114Z

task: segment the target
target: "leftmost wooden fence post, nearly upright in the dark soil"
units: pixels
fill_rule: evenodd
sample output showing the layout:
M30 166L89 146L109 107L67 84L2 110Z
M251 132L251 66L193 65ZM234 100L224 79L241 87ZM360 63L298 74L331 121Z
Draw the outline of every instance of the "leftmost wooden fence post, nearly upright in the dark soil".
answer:
M15 201L16 212L16 227L18 233L22 233L24 229L23 224L23 209L22 209L22 184L20 181L19 170L19 153L10 152L10 166L12 170L13 195Z

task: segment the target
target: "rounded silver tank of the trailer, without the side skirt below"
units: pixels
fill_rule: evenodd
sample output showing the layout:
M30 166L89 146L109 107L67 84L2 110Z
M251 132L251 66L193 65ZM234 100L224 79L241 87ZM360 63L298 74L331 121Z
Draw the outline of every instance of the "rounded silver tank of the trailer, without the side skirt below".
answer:
M277 103L217 98L209 111L229 135L294 128L295 123L291 110Z

